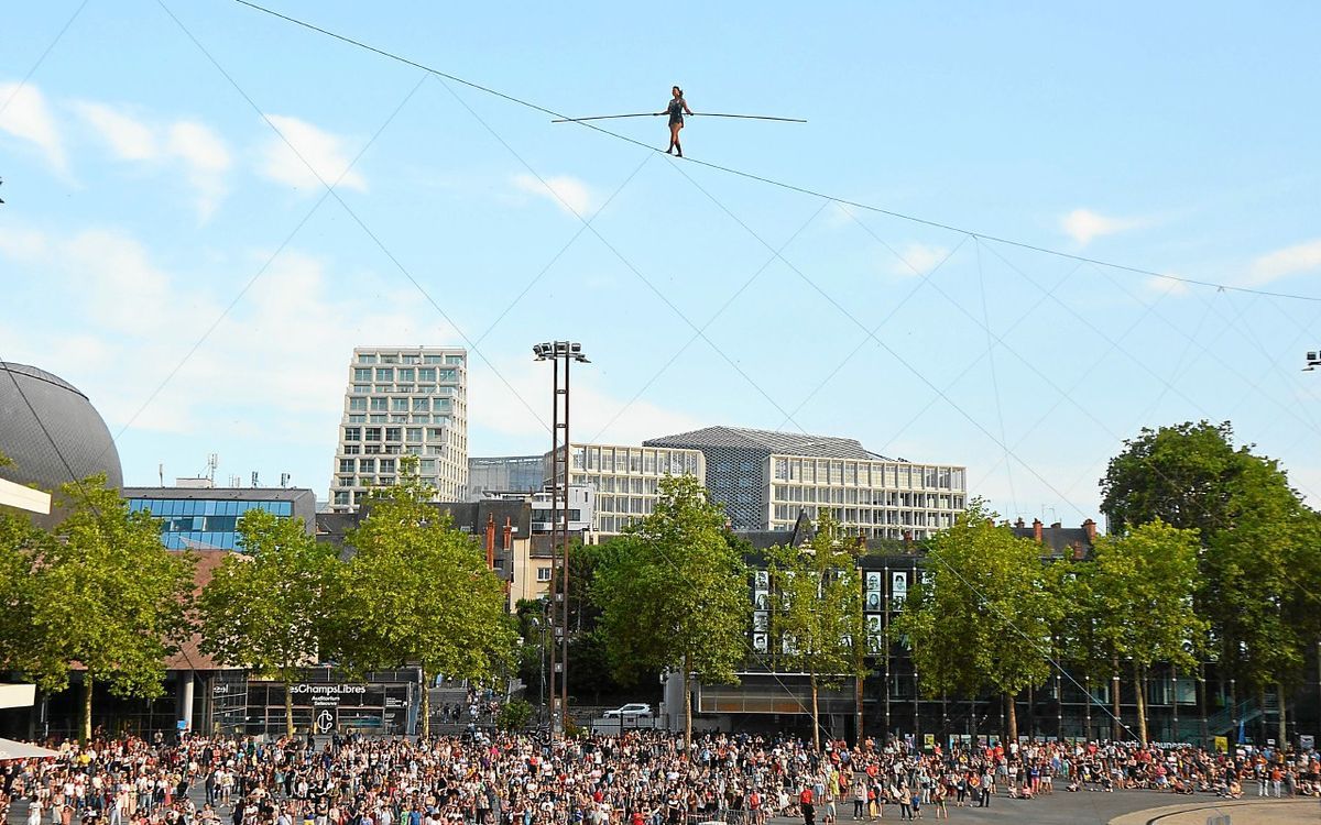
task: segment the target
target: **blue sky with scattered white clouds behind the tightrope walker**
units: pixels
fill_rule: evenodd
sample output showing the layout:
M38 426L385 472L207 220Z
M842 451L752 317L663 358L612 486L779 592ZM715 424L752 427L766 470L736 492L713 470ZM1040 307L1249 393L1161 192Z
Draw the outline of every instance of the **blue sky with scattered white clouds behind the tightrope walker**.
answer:
M676 164L223 0L89 0L21 83L79 3L7 11L0 356L87 392L129 483L217 453L325 496L355 345L477 342L473 454L538 453L530 346L572 337L577 440L849 436L1077 524L1123 438L1229 418L1321 500L1318 301ZM572 115L808 120L699 115L694 158L1321 297L1314 4L272 4Z

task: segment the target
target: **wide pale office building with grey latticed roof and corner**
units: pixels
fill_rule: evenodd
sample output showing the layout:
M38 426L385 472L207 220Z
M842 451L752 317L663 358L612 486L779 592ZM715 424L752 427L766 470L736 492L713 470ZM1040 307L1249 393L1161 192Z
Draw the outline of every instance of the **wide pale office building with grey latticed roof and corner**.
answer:
M708 426L646 446L697 450L736 531L787 531L830 510L867 539L922 540L967 507L967 473L872 453L852 438Z

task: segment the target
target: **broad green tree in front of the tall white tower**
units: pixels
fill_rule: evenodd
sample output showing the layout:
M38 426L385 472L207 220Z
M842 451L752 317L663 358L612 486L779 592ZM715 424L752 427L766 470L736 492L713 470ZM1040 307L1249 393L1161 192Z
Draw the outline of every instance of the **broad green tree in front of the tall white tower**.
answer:
M359 673L419 665L428 737L427 676L490 678L509 660L515 632L485 550L429 503L417 459L400 463L399 483L374 490L362 524L345 537L354 557L341 568L328 653Z

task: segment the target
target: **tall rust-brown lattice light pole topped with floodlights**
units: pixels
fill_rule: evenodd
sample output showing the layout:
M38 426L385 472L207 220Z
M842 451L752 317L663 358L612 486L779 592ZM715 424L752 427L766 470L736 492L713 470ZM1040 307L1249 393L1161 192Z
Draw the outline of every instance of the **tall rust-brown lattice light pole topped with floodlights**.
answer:
M536 360L552 366L553 395L551 397L551 589L555 589L555 541L560 541L560 593L563 602L559 668L559 714L551 714L551 731L563 733L568 722L569 704L569 367L573 362L590 363L583 345L573 341L543 342L532 346ZM564 383L560 384L560 362L564 362ZM563 430L563 433L561 433ZM552 609L553 614L553 609ZM551 640L553 644L553 639ZM551 701L555 702L555 648L551 648Z

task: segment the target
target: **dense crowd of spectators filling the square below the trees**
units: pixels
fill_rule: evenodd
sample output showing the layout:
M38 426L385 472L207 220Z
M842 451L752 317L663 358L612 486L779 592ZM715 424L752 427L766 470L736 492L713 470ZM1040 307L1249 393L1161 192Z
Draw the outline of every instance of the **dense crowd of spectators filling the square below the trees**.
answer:
M1058 792L1321 796L1316 754L1028 743L820 752L787 738L663 731L346 739L181 737L66 743L4 763L0 804L26 825L806 825L948 818ZM1018 804L1018 803L1012 803Z

